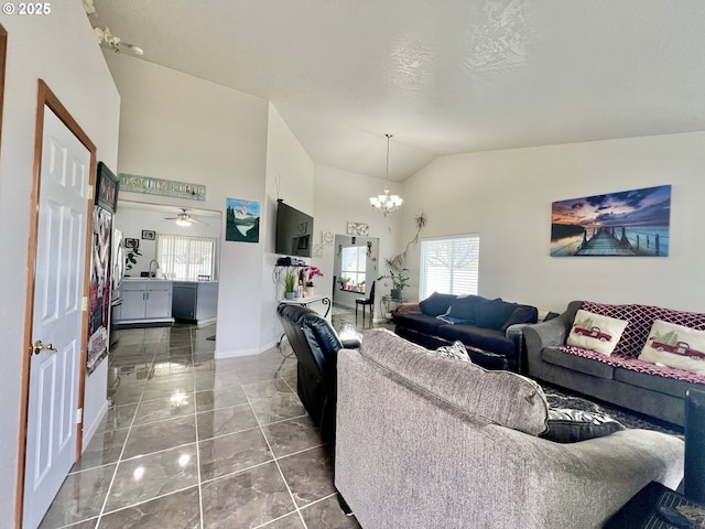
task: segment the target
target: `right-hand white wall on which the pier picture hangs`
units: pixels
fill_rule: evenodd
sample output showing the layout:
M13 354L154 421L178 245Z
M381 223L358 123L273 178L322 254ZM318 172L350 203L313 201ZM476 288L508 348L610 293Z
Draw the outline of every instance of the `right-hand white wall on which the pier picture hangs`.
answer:
M703 311L705 132L516 149L437 159L405 182L422 236L480 234L486 296L562 311L571 300ZM549 257L551 203L672 184L670 256ZM419 249L410 261L417 295Z

